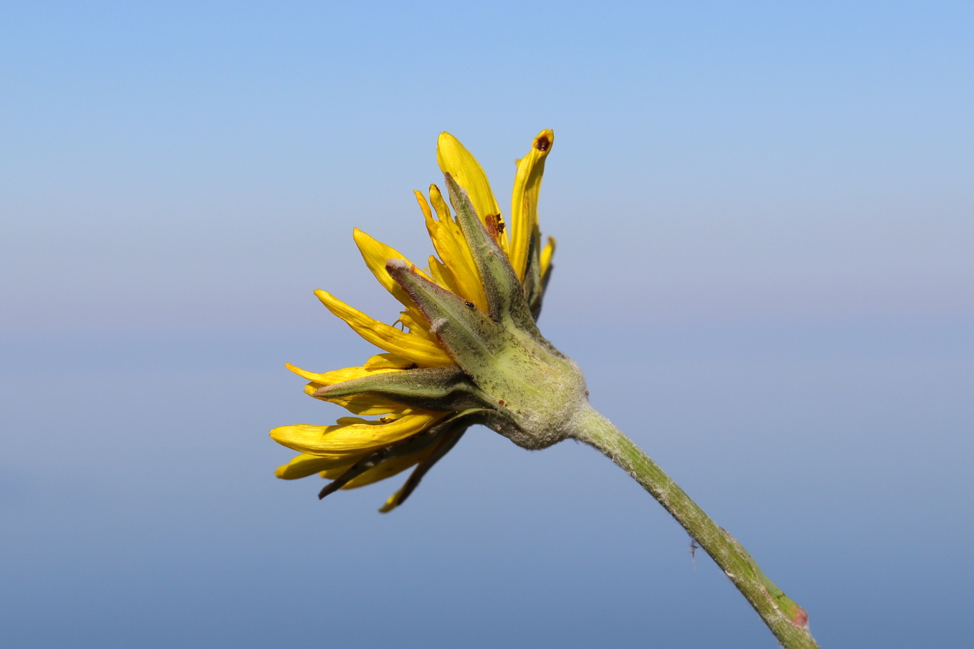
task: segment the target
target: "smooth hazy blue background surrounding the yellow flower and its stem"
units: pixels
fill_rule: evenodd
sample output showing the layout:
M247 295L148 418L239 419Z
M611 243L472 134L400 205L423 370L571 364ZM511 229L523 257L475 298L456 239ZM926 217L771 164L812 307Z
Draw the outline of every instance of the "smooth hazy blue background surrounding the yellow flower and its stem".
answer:
M0 644L773 647L594 451L282 482L459 136L553 128L544 332L823 647L974 633L969 2L0 9Z

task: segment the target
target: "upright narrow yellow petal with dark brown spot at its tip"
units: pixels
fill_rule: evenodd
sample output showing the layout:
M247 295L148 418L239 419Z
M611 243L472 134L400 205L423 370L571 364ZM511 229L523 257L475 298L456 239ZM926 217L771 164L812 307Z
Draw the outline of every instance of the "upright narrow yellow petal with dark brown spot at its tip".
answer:
M528 248L538 234L538 193L542 187L544 159L554 143L554 132L546 129L535 137L528 155L517 161L514 191L510 197L510 264L517 277L524 278ZM537 243L541 243L540 241Z

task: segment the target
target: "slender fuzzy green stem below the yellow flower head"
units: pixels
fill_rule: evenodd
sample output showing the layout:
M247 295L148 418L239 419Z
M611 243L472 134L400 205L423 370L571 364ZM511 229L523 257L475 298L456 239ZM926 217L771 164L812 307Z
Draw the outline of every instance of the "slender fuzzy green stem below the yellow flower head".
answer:
M751 602L781 646L785 649L818 649L808 632L805 609L781 592L737 540L706 515L639 446L591 406L584 406L573 424L572 437L602 451L642 484L683 525Z

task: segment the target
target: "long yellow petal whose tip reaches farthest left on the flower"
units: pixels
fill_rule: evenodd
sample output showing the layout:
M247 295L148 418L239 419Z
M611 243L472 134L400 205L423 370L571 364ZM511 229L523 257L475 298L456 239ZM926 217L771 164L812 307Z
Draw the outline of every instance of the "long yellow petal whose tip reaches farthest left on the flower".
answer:
M442 419L448 413L414 410L393 421L383 422L357 420L343 417L339 421L350 421L335 426L280 426L271 431L271 438L278 443L310 455L334 455L346 451L363 451L379 448L406 439ZM359 423L361 422L361 423Z

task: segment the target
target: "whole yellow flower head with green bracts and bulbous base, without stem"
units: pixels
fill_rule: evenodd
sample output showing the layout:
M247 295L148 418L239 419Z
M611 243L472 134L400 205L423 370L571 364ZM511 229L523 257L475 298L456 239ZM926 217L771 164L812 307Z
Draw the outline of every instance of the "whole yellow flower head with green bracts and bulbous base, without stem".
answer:
M285 479L331 479L319 497L415 467L380 510L400 505L469 426L485 424L527 448L570 436L566 422L583 401L577 365L538 331L554 240L542 246L538 194L554 134L543 131L517 161L507 220L487 175L451 134L439 135L436 160L451 212L436 185L415 192L436 255L420 269L356 229L369 270L402 304L386 325L323 290L318 299L365 340L385 351L361 366L324 373L287 367L308 379L305 392L355 415L332 426L271 431L300 455Z

